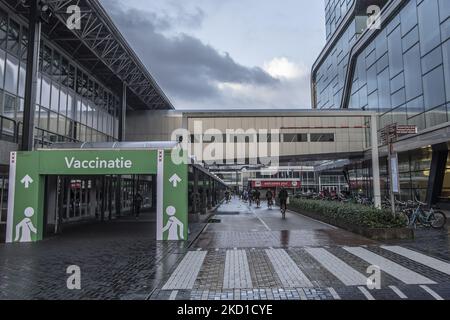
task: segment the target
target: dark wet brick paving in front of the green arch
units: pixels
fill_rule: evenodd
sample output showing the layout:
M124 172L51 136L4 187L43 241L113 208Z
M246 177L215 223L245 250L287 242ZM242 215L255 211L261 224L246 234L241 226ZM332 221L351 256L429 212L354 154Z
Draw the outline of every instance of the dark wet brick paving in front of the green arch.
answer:
M147 299L190 243L155 241L155 223L80 225L36 244L0 244L0 299ZM204 225L191 225L195 239ZM67 267L81 270L81 290L68 290Z

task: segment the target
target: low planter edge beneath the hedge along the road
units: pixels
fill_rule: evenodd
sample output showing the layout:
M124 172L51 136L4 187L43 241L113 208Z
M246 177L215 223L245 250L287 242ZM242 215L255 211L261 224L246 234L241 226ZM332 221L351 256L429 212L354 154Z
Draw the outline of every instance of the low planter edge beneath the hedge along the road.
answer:
M320 213L314 212L306 212L303 210L298 210L292 207L289 207L289 210L298 212L304 216L320 220L322 222L328 223L335 227L359 234L366 238L372 240L413 240L414 239L414 230L410 228L364 228L359 226L354 226L345 221L332 219Z

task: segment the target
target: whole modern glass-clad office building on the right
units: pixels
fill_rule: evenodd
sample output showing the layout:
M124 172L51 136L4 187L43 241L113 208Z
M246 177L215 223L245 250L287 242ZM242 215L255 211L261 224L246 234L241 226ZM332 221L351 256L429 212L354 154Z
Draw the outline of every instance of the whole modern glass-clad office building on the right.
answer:
M379 129L414 125L418 134L394 144L399 154L401 197L417 190L430 204L450 199L450 2L326 1L327 43L312 68L315 109L363 109L379 114ZM373 19L372 19L373 20ZM379 23L377 25L377 22ZM381 139L380 139L381 141ZM380 145L382 189L386 146ZM353 168L370 176L364 162Z

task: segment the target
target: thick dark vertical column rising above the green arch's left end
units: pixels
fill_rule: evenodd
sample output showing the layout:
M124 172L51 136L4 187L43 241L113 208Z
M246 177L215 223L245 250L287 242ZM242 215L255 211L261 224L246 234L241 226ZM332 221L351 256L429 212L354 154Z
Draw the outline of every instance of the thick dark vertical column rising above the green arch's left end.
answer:
M22 151L34 148L34 113L36 109L37 73L39 49L41 42L41 21L39 16L39 0L30 1L28 17L27 67L25 77L25 101L23 112Z

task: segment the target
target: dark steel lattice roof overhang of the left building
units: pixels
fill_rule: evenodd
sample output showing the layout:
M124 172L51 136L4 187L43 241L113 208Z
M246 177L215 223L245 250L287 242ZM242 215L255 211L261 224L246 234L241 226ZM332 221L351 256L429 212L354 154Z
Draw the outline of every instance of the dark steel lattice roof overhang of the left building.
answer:
M7 0L18 14L26 18L23 0ZM53 11L49 23L43 23L43 37L66 53L99 80L121 93L128 89L128 105L137 110L167 110L173 105L150 72L131 49L98 0L47 0ZM81 9L81 30L69 30L67 8Z

